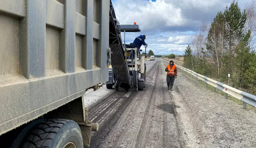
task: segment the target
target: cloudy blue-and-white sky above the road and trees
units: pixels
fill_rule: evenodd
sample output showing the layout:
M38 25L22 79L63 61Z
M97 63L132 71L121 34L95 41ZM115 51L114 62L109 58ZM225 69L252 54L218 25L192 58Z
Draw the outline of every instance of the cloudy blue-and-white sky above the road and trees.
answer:
M250 0L238 0L241 9ZM202 24L212 21L232 0L112 0L120 24L137 22L141 32L126 33L126 44L146 35L147 51L156 55L182 55L190 36ZM124 42L124 34L122 33ZM144 47L144 46L141 46Z

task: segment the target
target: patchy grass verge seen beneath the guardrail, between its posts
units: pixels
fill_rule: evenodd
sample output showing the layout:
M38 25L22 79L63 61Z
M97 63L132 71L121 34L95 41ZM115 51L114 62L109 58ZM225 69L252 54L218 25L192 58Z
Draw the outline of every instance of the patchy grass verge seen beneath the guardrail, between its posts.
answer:
M192 78L192 77L191 77L191 74L189 75L189 73L188 73L188 74L186 75L184 72L182 72L182 74L185 75L186 77L190 78L191 80L194 80L194 81L195 81L195 77L193 76L193 78ZM211 90L211 91L214 92L214 87L211 86L210 84L208 84L208 87L206 87L206 83L205 83L204 81L202 81L201 84L200 84L200 81L196 81L196 83L197 83L199 86L204 87L204 88L206 88L206 89ZM221 90L219 90L219 89L216 88L216 93L222 95L223 98L225 99L225 95L226 95L225 92L223 92L223 91L221 91ZM234 98L234 97L232 97L232 96L230 96L230 95L228 95L228 100L232 100L232 101L234 101L235 103L237 103L237 104L239 104L239 105L241 105L241 106L243 105L243 102L242 102L242 101L240 101L240 100L238 100L238 99L236 99L236 98ZM256 113L256 109L255 109L254 107L252 107L251 105L249 105L249 104L246 105L246 109L247 109L247 110L254 110L254 112Z

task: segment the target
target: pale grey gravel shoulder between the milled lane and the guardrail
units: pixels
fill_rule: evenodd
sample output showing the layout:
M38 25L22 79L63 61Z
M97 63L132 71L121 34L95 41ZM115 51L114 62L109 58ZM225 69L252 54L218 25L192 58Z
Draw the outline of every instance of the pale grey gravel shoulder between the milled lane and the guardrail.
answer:
M183 145L198 148L256 147L256 114L200 87L181 72L172 96L183 124ZM196 143L195 143L196 141Z

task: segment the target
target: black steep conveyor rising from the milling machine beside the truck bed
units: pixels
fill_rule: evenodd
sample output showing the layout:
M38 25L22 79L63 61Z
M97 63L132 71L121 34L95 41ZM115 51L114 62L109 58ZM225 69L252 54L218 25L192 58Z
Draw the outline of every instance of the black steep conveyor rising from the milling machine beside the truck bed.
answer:
M128 63L125 57L124 46L121 39L121 31L118 20L116 19L115 10L110 0L109 11L109 47L111 48L111 66L117 78L120 87L130 86L130 74Z

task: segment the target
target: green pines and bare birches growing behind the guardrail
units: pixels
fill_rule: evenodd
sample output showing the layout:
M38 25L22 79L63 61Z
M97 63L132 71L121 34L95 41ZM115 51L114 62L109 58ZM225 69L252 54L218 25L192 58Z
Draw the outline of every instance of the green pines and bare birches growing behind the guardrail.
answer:
M204 20L185 49L184 67L256 94L256 3L233 1L213 21Z

